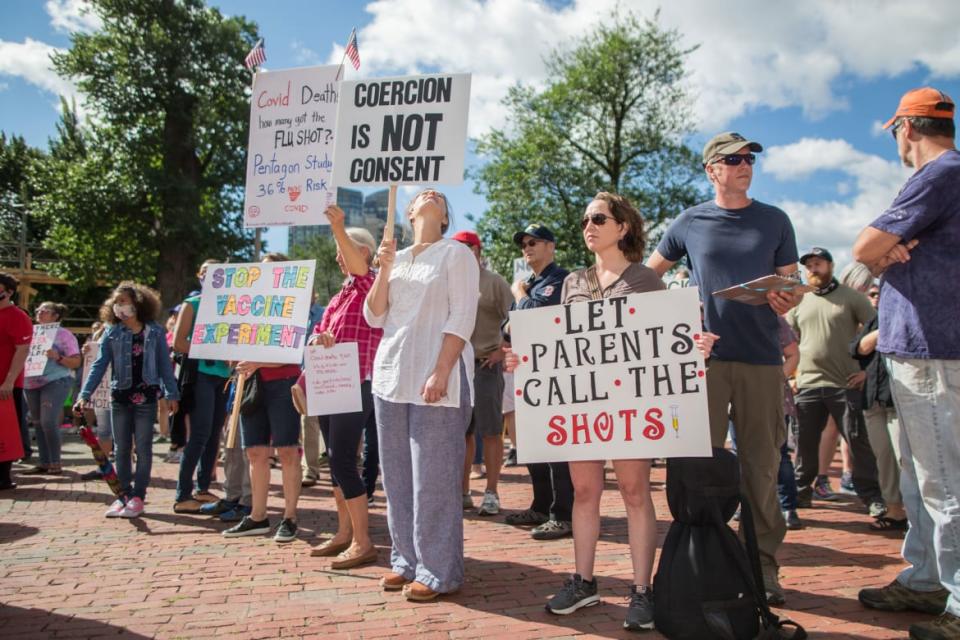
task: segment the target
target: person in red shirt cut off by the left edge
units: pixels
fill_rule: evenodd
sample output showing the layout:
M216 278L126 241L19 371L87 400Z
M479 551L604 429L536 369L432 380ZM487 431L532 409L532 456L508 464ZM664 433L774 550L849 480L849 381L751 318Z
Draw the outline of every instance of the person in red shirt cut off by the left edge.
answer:
M27 351L33 339L33 323L30 316L13 304L13 294L17 292L20 281L9 273L0 272L0 402L13 399L16 408L16 428L6 428L0 433L19 433L22 438L24 457L30 446L29 437L24 437L23 420L23 365L27 361ZM9 445L5 450L19 447ZM15 489L16 484L10 478L13 460L0 461L0 490Z

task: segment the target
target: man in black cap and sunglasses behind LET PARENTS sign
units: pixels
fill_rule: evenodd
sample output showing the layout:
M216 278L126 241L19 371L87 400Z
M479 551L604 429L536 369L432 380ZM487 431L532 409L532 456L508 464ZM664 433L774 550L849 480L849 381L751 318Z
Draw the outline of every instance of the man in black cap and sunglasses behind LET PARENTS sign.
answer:
M536 309L560 304L560 291L567 270L553 261L556 237L544 225L534 222L523 231L513 234L514 244L520 247L523 259L533 271L526 280L513 283L511 309ZM509 336L509 325L504 336ZM517 430L523 429L518 424ZM528 464L533 484L533 503L529 509L511 513L507 524L533 526L534 540L554 540L573 535L573 481L566 462L538 462Z

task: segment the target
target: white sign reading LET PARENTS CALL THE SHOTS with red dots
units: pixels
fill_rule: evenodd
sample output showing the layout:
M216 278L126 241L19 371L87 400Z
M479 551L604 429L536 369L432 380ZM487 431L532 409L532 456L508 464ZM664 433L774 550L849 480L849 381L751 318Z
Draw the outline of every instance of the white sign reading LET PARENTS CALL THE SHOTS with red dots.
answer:
M520 462L709 456L696 288L510 313Z

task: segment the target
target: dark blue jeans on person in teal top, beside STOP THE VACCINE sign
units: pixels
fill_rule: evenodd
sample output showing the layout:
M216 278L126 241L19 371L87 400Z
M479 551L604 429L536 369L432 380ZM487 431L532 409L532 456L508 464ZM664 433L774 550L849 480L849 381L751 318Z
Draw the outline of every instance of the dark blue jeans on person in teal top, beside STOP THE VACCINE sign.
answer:
M180 459L175 500L193 495L193 472L197 489L210 489L210 479L220 451L220 431L227 413L226 378L198 373L193 385L193 409L190 411L190 437Z

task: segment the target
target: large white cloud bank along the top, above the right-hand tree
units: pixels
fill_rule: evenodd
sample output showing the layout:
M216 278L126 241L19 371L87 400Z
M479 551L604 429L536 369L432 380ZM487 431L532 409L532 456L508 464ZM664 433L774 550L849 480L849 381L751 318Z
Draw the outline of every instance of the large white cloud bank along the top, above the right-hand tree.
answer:
M359 33L362 75L423 69L474 74L470 133L502 126L499 106L517 81L539 84L543 57L608 20L616 7L677 28L690 54L690 87L702 131L758 107L799 107L812 119L847 108L835 88L843 74L894 76L918 65L933 78L960 74L960 3L918 0L779 3L741 0L376 0ZM331 63L343 48L335 45Z

